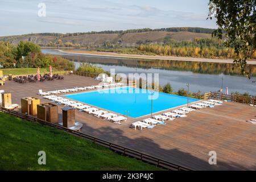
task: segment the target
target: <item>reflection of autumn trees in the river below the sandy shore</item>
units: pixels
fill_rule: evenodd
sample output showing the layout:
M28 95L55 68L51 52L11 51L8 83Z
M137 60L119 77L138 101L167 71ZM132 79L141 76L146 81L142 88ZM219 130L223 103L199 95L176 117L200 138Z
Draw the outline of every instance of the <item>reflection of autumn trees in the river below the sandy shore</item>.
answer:
M135 59L113 59L109 57L85 57L64 56L72 61L86 61L94 64L119 65L131 68L163 68L172 71L191 71L193 73L240 75L240 69L230 63L208 63L197 61L174 61L174 60L135 60ZM234 69L232 69L234 67ZM256 76L256 65L247 65L251 76Z

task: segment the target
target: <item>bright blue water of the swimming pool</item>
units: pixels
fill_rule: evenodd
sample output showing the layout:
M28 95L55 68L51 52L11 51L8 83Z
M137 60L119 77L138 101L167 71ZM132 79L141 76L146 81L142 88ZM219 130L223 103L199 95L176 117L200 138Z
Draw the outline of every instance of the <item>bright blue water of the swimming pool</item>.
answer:
M71 94L65 97L133 118L151 114L151 97L153 113L187 104L187 97L155 91L151 94L150 90L131 87ZM189 103L195 101L198 99L189 98Z

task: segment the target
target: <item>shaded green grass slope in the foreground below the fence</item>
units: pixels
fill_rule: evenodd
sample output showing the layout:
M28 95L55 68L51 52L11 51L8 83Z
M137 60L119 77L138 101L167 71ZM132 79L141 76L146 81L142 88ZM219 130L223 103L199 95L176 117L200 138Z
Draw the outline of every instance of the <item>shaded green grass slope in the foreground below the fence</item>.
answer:
M159 170L89 140L0 113L0 170ZM46 152L46 165L38 152Z

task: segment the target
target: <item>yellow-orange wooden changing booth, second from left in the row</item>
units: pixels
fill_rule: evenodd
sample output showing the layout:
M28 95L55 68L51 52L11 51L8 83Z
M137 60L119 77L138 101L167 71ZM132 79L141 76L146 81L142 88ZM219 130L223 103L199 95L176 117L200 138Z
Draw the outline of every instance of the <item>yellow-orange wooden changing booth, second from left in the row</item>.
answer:
M37 115L38 114L37 105L39 104L40 104L40 100L38 98L35 98L35 97L21 98L22 113Z

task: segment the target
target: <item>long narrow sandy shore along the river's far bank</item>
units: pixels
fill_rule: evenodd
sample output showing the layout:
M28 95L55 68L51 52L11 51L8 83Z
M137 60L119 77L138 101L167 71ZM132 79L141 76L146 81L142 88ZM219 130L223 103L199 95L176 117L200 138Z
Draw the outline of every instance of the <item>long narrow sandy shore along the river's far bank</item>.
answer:
M208 63L233 63L233 59L209 59L209 58L197 58L197 57L176 57L176 56L150 56L150 55L130 55L125 53L115 52L98 52L98 51L62 51L60 52L74 53L77 55L93 55L93 56L104 56L104 57L123 57L133 59L158 59L158 60L175 60L175 61L199 61ZM247 64L256 65L255 60L247 61Z

